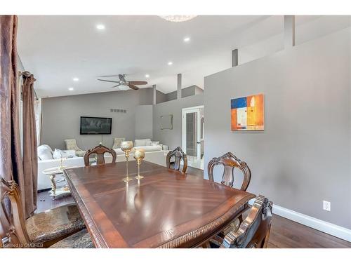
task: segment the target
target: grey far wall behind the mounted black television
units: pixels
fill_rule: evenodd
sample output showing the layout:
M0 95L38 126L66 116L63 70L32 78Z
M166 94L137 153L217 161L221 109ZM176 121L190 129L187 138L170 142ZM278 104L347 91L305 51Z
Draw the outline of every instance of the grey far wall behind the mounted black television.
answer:
M75 138L81 149L90 149L98 145L101 138L107 147L112 147L114 137L135 140L137 106L152 104L152 95L150 96L147 90L152 93L150 88L43 98L41 144L65 149L64 140ZM110 109L126 109L126 113L110 112ZM111 117L112 134L79 135L80 116Z

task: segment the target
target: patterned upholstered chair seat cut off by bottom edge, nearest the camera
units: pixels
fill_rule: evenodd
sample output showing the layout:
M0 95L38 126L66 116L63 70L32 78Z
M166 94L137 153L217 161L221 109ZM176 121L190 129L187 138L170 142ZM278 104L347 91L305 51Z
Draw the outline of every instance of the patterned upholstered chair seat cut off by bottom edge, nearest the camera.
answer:
M83 229L72 236L68 236L49 248L95 248L93 241L86 229Z

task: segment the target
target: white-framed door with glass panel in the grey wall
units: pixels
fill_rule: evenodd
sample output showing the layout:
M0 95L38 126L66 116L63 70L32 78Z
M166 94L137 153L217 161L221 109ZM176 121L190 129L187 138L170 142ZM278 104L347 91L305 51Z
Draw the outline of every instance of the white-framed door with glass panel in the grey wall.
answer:
M201 159L201 114L204 106L183 109L182 137L183 151L187 156Z

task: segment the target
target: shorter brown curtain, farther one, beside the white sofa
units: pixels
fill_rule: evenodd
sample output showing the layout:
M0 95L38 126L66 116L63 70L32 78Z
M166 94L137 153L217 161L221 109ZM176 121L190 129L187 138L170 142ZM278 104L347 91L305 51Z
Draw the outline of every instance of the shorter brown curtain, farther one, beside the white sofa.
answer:
M23 173L25 175L25 211L27 215L37 208L37 128L34 114L34 76L23 75L22 84L22 152ZM21 189L23 191L23 189Z

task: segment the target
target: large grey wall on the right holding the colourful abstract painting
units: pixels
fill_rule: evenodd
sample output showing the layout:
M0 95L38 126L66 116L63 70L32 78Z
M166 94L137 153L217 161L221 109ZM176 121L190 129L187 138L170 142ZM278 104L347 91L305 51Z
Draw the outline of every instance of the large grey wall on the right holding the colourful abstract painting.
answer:
M351 229L350 36L344 29L206 76L205 167L232 151L251 168L248 191ZM265 94L265 130L230 131L230 99L256 93Z

